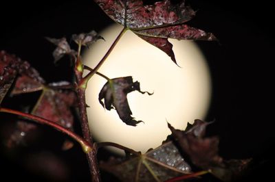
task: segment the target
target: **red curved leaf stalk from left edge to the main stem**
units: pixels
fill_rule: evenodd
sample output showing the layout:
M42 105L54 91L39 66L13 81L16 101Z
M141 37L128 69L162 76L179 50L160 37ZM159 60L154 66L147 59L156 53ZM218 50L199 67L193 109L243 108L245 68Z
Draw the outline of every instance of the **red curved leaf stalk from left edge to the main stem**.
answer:
M69 135L74 140L76 140L76 142L78 142L82 146L83 151L85 153L89 153L89 151L94 151L93 150L94 146L91 146L91 144L89 142L87 142L84 138L81 138L79 135L77 135L73 131L70 131L70 130L66 129L65 127L62 127L61 125L58 125L56 122L53 122L51 120L46 120L44 118L41 118L39 116L35 116L35 115L32 115L32 114L27 114L27 113L24 113L24 112L19 112L17 110L3 108L3 107L0 108L0 112L15 114L15 115L18 115L18 116L23 116L23 117L28 118L30 120L34 120L34 121L36 121L40 124L54 127L54 129L57 129L58 131L61 131L65 134Z

